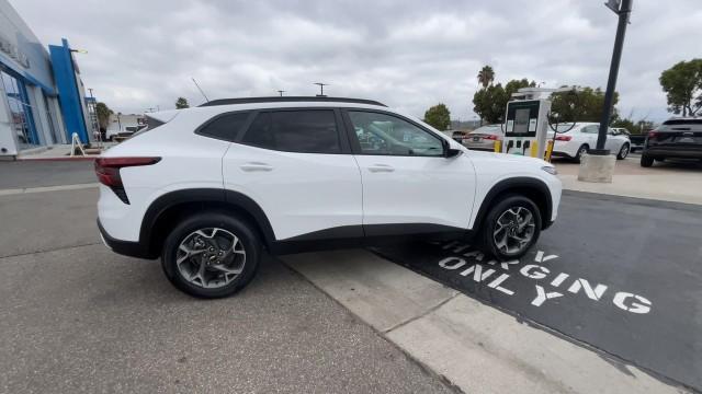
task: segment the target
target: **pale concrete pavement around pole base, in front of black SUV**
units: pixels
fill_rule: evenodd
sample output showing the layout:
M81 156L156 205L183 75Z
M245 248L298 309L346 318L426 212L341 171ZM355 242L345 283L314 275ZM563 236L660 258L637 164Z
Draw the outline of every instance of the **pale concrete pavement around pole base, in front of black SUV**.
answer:
M618 160L611 184L580 182L579 164L563 159L555 159L553 163L558 169L558 177L566 189L702 204L700 162L656 162L653 167L644 169L639 165L639 158Z

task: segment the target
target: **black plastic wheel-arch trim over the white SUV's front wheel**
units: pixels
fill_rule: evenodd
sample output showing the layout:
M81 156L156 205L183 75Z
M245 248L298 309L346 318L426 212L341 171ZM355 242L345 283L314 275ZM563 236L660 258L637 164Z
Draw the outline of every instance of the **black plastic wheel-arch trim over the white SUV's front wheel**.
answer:
M513 178L507 178L499 181L483 198L483 202L480 202L480 208L478 209L478 213L475 217L475 221L473 223L473 229L478 229L483 224L483 220L487 215L487 211L490 209L492 201L502 193L509 192L510 189L532 189L542 197L542 201L534 201L536 206L542 211L542 229L545 230L551 225L551 216L553 212L553 200L551 198L551 190L545 182L528 176L519 176Z

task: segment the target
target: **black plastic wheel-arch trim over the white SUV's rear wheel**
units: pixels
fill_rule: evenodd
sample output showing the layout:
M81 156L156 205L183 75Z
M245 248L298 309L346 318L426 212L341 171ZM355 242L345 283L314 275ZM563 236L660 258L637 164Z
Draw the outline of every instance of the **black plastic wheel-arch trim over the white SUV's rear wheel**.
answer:
M219 207L240 209L253 219L253 224L259 227L267 244L275 241L273 228L263 209L250 197L238 192L219 188L191 188L167 193L151 202L144 215L144 220L141 220L139 244L150 245L152 240L151 229L161 215L169 208L186 202L213 202L213 205Z

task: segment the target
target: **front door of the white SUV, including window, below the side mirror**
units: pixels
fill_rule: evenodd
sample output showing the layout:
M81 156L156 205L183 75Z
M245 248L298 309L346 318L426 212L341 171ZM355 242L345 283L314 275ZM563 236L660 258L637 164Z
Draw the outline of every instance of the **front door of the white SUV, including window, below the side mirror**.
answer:
M448 141L393 113L346 109L344 120L361 169L366 235L467 229L475 171L466 154L445 158Z

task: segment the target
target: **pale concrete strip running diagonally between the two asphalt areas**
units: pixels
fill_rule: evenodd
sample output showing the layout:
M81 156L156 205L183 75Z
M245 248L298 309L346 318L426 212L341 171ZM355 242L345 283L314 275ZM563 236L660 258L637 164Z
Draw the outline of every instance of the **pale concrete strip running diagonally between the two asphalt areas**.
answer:
M465 393L679 392L367 251L282 259Z

